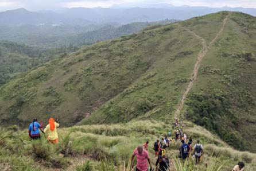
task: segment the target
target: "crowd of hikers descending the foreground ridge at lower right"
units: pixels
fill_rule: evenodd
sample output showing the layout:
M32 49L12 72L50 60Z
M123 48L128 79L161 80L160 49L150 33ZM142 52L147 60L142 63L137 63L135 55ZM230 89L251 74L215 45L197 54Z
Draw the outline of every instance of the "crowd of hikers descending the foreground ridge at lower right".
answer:
M161 141L157 140L154 142L154 154L156 157L156 170L157 171L169 171L170 170L170 162L169 158L166 155L166 148L169 147L170 144L175 143L177 141L181 142L181 146L179 148L179 158L182 161L187 160L189 157L195 158L195 164L199 164L203 160L203 145L201 145L200 140L197 139L195 145L192 147L193 139L190 137L187 143L187 135L182 133L181 129L178 129L175 132L175 137L171 138L170 131L168 132L168 137L161 138ZM147 171L148 163L150 165L150 170L152 168L152 161L149 158L148 153L149 141L144 143L142 146L139 145L133 152L133 156L131 157L131 161L134 160L134 157L137 157L137 165L135 166L135 171ZM241 161L238 165L235 165L232 171L243 171L245 164Z

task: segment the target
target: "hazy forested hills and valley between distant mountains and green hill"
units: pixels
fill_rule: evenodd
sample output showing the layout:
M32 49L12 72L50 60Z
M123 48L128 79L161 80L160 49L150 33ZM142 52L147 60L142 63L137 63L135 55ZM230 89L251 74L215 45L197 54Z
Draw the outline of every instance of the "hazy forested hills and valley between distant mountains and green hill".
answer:
M95 42L133 34L149 25L165 25L176 20L159 22L136 22L126 25L63 25L38 24L21 26L1 26L0 40L15 41L41 48L60 48L72 45L91 45Z

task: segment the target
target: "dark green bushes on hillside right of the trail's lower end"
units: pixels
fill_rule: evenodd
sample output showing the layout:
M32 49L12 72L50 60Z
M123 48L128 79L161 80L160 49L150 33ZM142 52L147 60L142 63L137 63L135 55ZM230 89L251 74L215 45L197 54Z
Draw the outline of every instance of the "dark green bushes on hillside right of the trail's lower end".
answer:
M234 123L238 123L239 120L230 111L231 104L228 99L226 95L217 92L189 95L187 117L197 125L215 131L224 141L236 148L242 149L245 147L244 142L232 130L235 128ZM223 116L228 120L222 118Z

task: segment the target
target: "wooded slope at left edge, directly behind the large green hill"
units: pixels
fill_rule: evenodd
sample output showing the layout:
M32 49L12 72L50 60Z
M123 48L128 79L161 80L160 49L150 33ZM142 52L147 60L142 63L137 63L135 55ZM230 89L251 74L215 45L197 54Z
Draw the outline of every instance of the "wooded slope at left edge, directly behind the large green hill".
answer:
M15 42L0 41L0 86L19 73L29 71L65 52L73 52L77 49L76 46L41 49Z

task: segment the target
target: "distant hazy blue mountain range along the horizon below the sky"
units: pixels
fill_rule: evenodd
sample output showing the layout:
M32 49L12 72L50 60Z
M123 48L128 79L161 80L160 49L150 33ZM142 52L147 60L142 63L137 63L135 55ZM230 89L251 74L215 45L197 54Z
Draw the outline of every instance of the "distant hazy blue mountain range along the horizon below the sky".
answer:
M241 11L256 15L256 9L243 7L191 7L156 5L155 7L124 7L122 5L111 8L65 8L57 11L28 11L26 9L8 10L0 13L0 25L20 26L26 24L62 24L62 25L91 25L131 22L154 22L165 18L186 20L199 15L215 13L217 11Z

